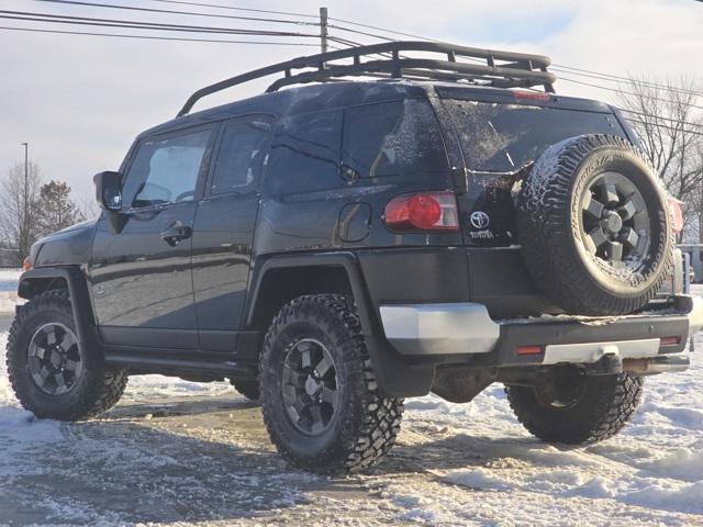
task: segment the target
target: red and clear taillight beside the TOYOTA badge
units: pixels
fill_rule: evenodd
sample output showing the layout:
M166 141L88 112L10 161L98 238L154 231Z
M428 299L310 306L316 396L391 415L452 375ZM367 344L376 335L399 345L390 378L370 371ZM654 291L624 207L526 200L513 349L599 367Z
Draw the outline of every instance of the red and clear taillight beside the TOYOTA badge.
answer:
M420 192L393 198L383 213L393 231L458 231L457 199L453 192Z

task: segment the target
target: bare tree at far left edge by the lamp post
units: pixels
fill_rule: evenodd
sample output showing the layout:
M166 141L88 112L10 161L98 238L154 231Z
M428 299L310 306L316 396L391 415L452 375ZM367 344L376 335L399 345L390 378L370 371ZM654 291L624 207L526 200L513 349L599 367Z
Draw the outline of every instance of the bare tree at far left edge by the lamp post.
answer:
M15 264L30 254L30 247L40 235L38 198L42 170L30 162L24 181L24 164L18 162L2 181L0 193L0 243L15 251Z

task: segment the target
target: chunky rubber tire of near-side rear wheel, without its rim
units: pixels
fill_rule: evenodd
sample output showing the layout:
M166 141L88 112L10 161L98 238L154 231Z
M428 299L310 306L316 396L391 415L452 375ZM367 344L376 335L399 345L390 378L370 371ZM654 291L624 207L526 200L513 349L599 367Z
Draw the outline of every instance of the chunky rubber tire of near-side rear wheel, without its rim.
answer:
M303 338L324 343L342 379L330 428L312 437L291 424L281 389L287 350ZM379 393L361 324L347 296L316 294L286 304L266 334L259 382L264 423L294 467L319 473L358 471L384 456L400 431L403 401Z

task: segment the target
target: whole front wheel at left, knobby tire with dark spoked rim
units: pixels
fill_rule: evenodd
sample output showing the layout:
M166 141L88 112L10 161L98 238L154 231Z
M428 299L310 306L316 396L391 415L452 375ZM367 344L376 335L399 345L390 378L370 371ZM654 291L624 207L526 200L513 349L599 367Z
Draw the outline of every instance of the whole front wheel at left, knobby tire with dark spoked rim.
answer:
M66 291L48 291L20 309L10 328L7 366L14 393L37 417L78 421L114 406L124 370L78 345Z

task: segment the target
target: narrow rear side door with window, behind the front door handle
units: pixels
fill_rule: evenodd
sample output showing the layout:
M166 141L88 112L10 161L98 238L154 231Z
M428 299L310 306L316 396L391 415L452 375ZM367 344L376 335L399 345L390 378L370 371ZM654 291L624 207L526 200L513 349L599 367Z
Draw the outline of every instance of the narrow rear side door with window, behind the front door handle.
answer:
M198 204L192 272L200 344L234 351L252 262L260 172L270 121L242 117L224 124L204 199Z

